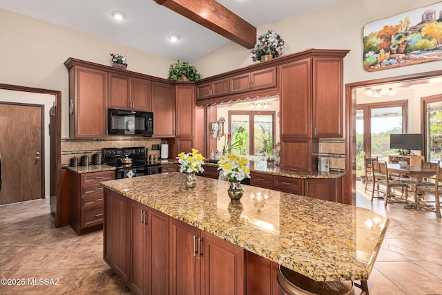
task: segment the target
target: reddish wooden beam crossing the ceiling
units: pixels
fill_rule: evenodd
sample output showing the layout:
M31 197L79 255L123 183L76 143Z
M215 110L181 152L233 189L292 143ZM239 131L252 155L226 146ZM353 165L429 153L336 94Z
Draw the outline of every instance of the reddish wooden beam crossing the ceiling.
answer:
M256 44L256 28L215 0L154 1L247 49Z

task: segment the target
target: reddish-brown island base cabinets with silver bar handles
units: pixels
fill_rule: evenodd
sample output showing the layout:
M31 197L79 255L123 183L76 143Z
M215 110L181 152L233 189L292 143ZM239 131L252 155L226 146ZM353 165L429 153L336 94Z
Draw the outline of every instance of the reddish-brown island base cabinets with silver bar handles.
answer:
M245 250L104 189L104 260L134 294L245 294Z

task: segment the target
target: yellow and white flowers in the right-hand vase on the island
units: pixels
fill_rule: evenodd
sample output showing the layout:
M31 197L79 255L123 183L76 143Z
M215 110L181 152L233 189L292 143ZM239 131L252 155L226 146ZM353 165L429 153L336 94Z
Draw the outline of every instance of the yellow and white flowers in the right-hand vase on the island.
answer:
M220 165L218 170L223 171L222 176L224 178L238 181L250 178L249 160L247 158L229 153L228 155L222 155L218 164Z

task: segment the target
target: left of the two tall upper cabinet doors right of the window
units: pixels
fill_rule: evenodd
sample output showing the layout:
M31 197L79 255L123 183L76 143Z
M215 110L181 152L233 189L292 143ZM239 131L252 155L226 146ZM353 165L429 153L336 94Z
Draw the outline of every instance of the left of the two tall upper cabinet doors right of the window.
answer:
M280 66L281 136L311 136L311 59Z

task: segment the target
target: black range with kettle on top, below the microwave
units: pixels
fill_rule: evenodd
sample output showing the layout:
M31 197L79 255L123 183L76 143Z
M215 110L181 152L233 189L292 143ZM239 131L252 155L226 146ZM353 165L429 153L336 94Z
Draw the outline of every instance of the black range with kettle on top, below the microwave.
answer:
M125 158L132 159L131 164L124 164ZM127 162L127 161L125 161ZM103 164L115 166L115 179L133 178L142 175L161 173L161 164L146 161L146 147L105 148Z

